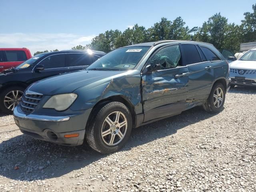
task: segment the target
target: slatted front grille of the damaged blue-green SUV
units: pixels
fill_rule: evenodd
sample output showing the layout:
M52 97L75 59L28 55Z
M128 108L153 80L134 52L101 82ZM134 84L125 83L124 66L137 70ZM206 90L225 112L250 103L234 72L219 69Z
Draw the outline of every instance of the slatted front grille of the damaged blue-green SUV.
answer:
M20 106L21 110L25 113L32 113L36 108L37 104L40 102L43 95L26 93L23 94Z

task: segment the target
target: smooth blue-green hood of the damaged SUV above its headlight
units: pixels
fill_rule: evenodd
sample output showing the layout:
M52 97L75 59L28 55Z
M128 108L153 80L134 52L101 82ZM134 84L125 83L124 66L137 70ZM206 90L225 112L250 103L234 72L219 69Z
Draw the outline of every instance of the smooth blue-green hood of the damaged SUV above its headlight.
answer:
M124 72L81 70L40 80L32 84L28 89L44 95L72 93L82 86L91 88L109 82L113 76Z

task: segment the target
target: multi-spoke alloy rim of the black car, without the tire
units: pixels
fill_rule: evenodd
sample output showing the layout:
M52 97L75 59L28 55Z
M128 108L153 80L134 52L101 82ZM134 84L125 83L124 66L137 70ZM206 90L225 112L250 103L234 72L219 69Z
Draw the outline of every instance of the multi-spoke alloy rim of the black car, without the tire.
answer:
M22 98L23 92L20 90L13 90L8 92L4 96L4 106L9 110L14 110L18 104L20 104L20 100Z

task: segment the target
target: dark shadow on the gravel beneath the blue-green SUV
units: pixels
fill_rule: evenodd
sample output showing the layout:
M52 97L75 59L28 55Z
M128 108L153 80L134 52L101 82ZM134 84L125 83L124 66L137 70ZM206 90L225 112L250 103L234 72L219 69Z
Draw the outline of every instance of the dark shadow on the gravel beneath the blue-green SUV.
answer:
M214 115L205 112L202 107L196 107L180 115L141 126L132 131L130 140L120 152L170 136L179 129ZM0 175L24 181L56 178L106 156L92 150L87 144L59 146L22 134L0 143Z

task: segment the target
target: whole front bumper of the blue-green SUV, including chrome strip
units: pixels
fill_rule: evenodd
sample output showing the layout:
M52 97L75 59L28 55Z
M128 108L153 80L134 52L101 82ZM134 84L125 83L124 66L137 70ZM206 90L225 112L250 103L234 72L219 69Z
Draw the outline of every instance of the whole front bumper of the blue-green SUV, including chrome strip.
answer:
M33 138L66 146L78 146L84 142L85 127L91 110L79 111L71 116L45 116L24 114L14 108L14 120L20 131ZM79 134L66 138L65 135Z

